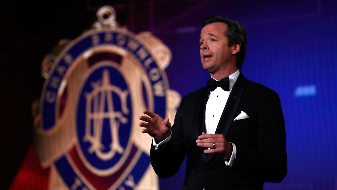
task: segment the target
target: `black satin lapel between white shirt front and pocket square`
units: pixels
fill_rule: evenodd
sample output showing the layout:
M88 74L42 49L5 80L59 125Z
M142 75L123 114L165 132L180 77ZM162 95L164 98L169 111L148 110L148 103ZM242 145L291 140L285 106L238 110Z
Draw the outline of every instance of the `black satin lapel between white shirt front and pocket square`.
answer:
M223 109L222 115L220 117L218 126L216 128L216 134L223 134L226 138L229 127L234 120L235 113L237 112L242 92L246 85L246 78L240 72L238 79L236 80L231 93L229 94L228 100L226 102L225 108ZM210 154L206 162L209 162L214 157L214 154Z

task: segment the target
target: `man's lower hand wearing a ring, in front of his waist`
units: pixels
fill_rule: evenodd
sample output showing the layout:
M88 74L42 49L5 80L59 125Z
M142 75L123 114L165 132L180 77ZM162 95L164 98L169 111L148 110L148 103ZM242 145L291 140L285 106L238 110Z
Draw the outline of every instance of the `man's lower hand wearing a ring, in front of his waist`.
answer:
M223 158L227 159L232 156L233 146L222 134L206 134L203 132L195 142L197 146L211 148L205 149L205 153L220 153ZM213 143L215 143L215 147L213 147Z

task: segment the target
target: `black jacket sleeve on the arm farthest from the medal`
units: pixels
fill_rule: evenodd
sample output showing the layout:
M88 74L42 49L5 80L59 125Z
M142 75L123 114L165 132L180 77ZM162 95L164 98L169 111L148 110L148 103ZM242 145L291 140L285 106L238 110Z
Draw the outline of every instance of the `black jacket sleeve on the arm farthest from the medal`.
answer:
M287 173L285 125L279 96L273 92L257 117L257 150L237 146L234 169L265 182L281 182Z

